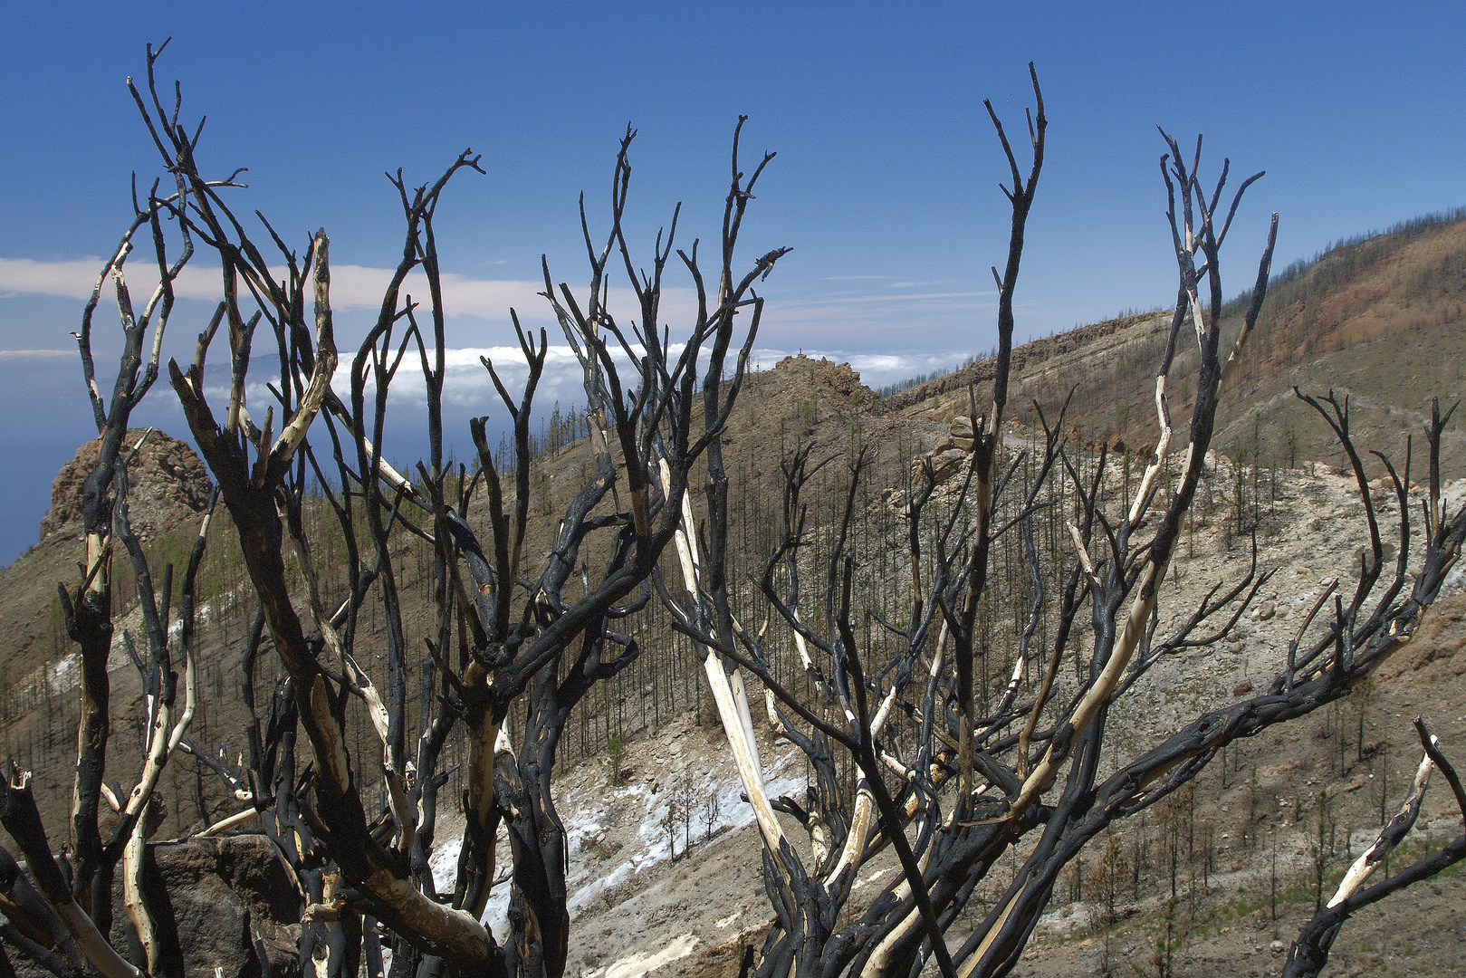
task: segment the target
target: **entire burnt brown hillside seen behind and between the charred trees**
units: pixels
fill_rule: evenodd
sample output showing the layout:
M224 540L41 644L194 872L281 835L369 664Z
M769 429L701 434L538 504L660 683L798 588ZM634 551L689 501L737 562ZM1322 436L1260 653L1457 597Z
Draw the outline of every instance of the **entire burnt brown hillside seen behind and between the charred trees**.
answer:
M1160 707L1151 716L1117 720L1117 735L1138 742L1152 742L1177 718L1209 704L1240 695L1259 674L1275 669L1284 654L1290 623L1299 616L1299 603L1315 595L1324 581L1336 573L1358 570L1362 507L1353 496L1352 479L1333 469L1338 453L1324 437L1324 428L1311 411L1292 396L1292 384L1311 390L1333 386L1352 394L1355 435L1362 447L1381 447L1397 462L1404 456L1404 435L1419 431L1428 415L1428 397L1438 393L1444 406L1466 393L1466 330L1462 323L1462 296L1466 295L1466 221L1426 223L1391 235L1343 245L1322 255L1306 268L1290 268L1278 276L1258 334L1243 368L1224 391L1220 434L1209 459L1207 497L1198 504L1196 519L1179 554L1174 579L1168 581L1168 614L1183 614L1217 581L1240 576L1245 544L1237 535L1230 506L1231 487L1250 479L1253 522L1259 526L1259 551L1265 567L1278 576L1261 600L1271 611L1240 623L1217 654L1205 652L1167 663L1158 670L1163 680ZM1168 314L1148 314L1110 320L1064 334L1035 340L1014 350L1016 384L1012 403L1036 399L1050 418L1057 405L1079 380L1066 430L1075 435L1080 466L1094 466L1092 453L1100 443L1111 449L1143 450L1155 437L1151 408L1154 378L1146 372L1164 345ZM1190 353L1183 353L1190 356ZM1186 364L1179 365L1180 371ZM858 496L856 543L871 554L859 567L856 587L862 607L884 610L897 589L891 579L890 554L902 553L905 532L899 503L910 484L912 459L932 457L947 482L941 500L950 501L960 484L960 431L969 408L969 384L978 387L978 406L984 406L982 386L991 381L992 365L978 361L962 371L881 397L861 383L843 364L803 356L787 358L770 371L749 375L739 406L724 431L724 457L730 478L734 547L730 554L730 579L742 581L737 594L743 620L761 620L767 609L746 584L749 573L762 569L762 560L777 543L783 481L780 460L795 447L812 447L815 460L833 459L821 469L809 494L809 545L814 563L828 553L828 528L847 481L846 460L858 449L871 452L872 466ZM1185 416L1189 405L1185 386L1174 391L1173 415ZM1423 412L1423 413L1422 413ZM1034 415L1014 409L1009 444L1022 447L1034 437ZM196 459L185 455L186 446L158 440L158 456L145 456L145 472L135 479L142 500L157 500L144 523L145 545L157 560L182 563L182 554L196 532L199 472ZM79 459L85 456L85 447ZM1421 457L1416 438L1416 459ZM570 441L542 453L532 469L534 512L559 512L570 494L583 484L589 471L585 440ZM1466 494L1466 435L1462 419L1453 421L1444 444L1445 478L1451 499L1460 504ZM949 466L949 463L951 463ZM35 770L37 795L48 826L62 831L70 792L75 751L75 664L69 644L60 632L56 582L75 581L79 543L75 525L75 496L79 488L76 465L57 478L53 512L43 525L43 541L21 560L0 572L0 661L3 673L3 735L7 752L23 767ZM943 468L947 466L947 468ZM1250 471L1245 466L1252 466ZM1129 491L1127 475L1117 466L1107 475L1113 493ZM1421 471L1413 471L1421 478ZM1265 488L1259 488L1265 487ZM1239 506L1242 490L1239 491ZM1267 493L1264 496L1264 491ZM1419 493L1412 503L1419 500ZM701 506L701 503L698 503ZM1388 509L1391 500L1381 500ZM482 501L469 509L469 519L485 522ZM155 512L154 512L155 510ZM311 532L321 538L331 528L331 518L320 503L309 509ZM1058 528L1057 531L1054 528ZM1058 523L1045 532L1063 532ZM553 521L539 519L531 528L531 553L547 548ZM1041 540L1041 547L1054 545ZM339 589L339 554L323 550L324 587ZM594 560L597 554L586 554ZM400 534L393 541L393 559L405 597L408 647L421 650L431 636L431 603L422 587L431 557L416 538ZM336 563L333 563L336 562ZM1017 562L1009 562L994 581L1001 591L1023 576ZM117 575L120 606L119 632L136 629L139 614ZM248 714L239 689L239 664L243 657L254 607L248 600L242 567L226 516L210 531L201 594L201 694L202 707L194 735L210 751L223 748L226 757L243 742ZM299 581L293 581L299 587ZM1457 572L1453 591L1459 594ZM1017 592L1017 585L1013 587ZM1243 952L1256 955L1265 969L1265 949L1274 934L1290 937L1289 927L1306 913L1312 897L1300 883L1305 874L1308 820L1297 812L1305 796L1318 790L1338 798L1336 821L1344 828L1343 843L1358 848L1375 826L1371 818L1380 798L1374 793L1375 771L1388 771L1388 784L1397 786L1413 767L1415 752L1407 717L1412 710L1426 710L1435 721L1451 757L1466 758L1466 680L1462 679L1462 620L1466 598L1443 601L1419 642L1381 676L1375 698L1350 705L1330 716L1316 716L1305 724L1286 727L1270 738L1242 745L1218 770L1208 770L1190 818L1198 830L1211 833L1199 849L1209 852L1205 872L1215 880L1204 884L1196 919L1205 918L1193 935L1193 968L1179 974L1233 974L1226 962ZM746 610L745 610L746 609ZM1259 609L1261 611L1261 609ZM994 617L1001 619L1000 614ZM754 941L767 927L768 908L758 891L756 836L748 827L748 809L737 798L732 768L727 765L712 727L698 723L705 714L707 696L686 639L674 635L666 616L655 610L636 616L625 626L642 647L642 657L613 682L601 683L572 714L560 743L561 815L572 837L572 908L578 921L573 968L586 978L635 978L661 966L658 975L736 974L737 949ZM1007 625L994 625L995 641L1004 639ZM381 674L381 622L375 609L364 616L359 647L362 666ZM1245 644L1243 644L1245 642ZM776 673L802 680L793 667L787 641L771 642ZM268 650L267 650L268 651ZM69 664L70 663L70 664ZM114 650L113 730L108 754L108 782L126 786L138 762L141 686L136 673ZM408 689L409 723L421 708L421 664L413 664ZM268 655L254 677L254 695L265 702L276 680L276 666ZM761 691L754 691L761 699ZM705 718L705 717L702 717ZM1346 730L1344 721L1349 721ZM1358 720L1358 727L1355 721ZM510 727L522 723L510 717ZM1360 730L1362 733L1358 733ZM365 784L375 784L371 771L374 733L359 711L352 720L352 760ZM611 783L607 745L611 739L627 743L617 782ZM764 738L768 776L781 790L798 795L806 771L798 752L787 743ZM443 755L443 767L462 761L459 748ZM1347 754L1349 757L1343 757ZM364 761L365 758L365 761ZM1230 765L1230 768L1229 768ZM1230 774L1229 774L1230 771ZM1227 777L1230 776L1230 782ZM1384 782L1381 777L1380 782ZM450 782L444 799L459 796L459 782ZM699 798L696 831L682 836L666 828L670 802L677 792ZM170 762L163 782L167 802L160 837L196 831L233 814L239 804L223 790L218 780L188 757ZM1394 802L1394 787L1390 787ZM708 799L717 799L715 804ZM692 802L689 801L688 805ZM449 815L444 804L438 826L440 862L452 865L460 823ZM1246 814L1243 815L1243 809ZM1448 824L1450 806L1443 795L1432 796L1428 808L1441 818L1437 831ZM793 823L790 823L793 826ZM1204 827L1204 828L1202 828ZM1154 842L1155 824L1127 826L1119 837L1123 845L1145 846ZM1278 922L1258 916L1264 891L1265 856L1271 856L1258 833L1284 855L1284 897ZM1148 834L1149 833L1149 834ZM798 839L800 833L795 831ZM670 836L670 837L668 837ZM1243 843L1242 840L1246 839ZM692 846L696 859L673 862L671 849ZM1138 849L1139 852L1139 849ZM1094 853L1091 853L1094 855ZM507 856L507 853L506 853ZM1272 856L1275 858L1275 856ZM507 865L507 858L503 862ZM1192 862L1190 869L1199 864ZM1330 865L1334 872L1338 864ZM1080 867L1080 875L1092 872ZM865 883L888 872L885 862L871 864ZM1100 953L1097 941L1113 941L1127 965L1148 962L1146 941L1152 940L1149 913L1161 886L1158 861L1136 872L1135 891L1127 900L1123 921L1091 934L1083 886L1076 884L1075 899L1056 897L1051 913L1039 927L1039 941L1016 974L1061 975L1092 969ZM1212 890L1215 884L1215 890ZM863 886L863 884L862 884ZM1440 887L1459 900L1459 877L1443 880ZM1302 887L1302 889L1299 889ZM875 887L871 887L874 894ZM1441 891L1444 893L1444 890ZM1412 933L1428 928L1445 933L1437 941L1434 957L1422 962L1450 963L1453 956L1448 915L1440 909L1450 897L1435 891L1409 891L1388 908L1393 916L1410 921ZM1209 915L1209 916L1208 916ZM1425 922L1425 924L1422 924ZM1374 930L1369 930L1374 927ZM1382 947L1399 941L1388 924L1350 930L1349 959L1369 965L1366 944ZM1459 931L1459 925L1456 927ZM1432 931L1434 934L1434 931ZM1088 943L1086 943L1088 941ZM1211 941L1208 944L1207 941ZM1229 943L1230 941L1230 943ZM1124 949L1129 947L1129 952ZM1209 947L1211 950L1204 950ZM1258 950L1252 950L1256 947ZM668 953L663 953L671 949ZM657 952L657 955L648 953ZM658 956L660 955L660 956ZM1208 957L1211 963L1207 963ZM1380 962L1375 962L1380 963ZM1352 965L1350 965L1352 966ZM1423 965L1422 965L1423 966ZM573 974L573 969L572 969ZM1261 972L1259 972L1261 974Z

